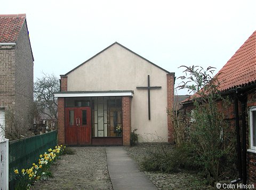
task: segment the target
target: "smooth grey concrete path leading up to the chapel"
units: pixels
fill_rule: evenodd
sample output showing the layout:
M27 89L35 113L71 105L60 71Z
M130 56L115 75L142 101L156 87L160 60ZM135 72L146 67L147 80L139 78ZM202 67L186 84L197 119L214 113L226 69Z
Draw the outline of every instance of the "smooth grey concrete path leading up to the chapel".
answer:
M108 172L114 190L156 190L122 146L106 147Z

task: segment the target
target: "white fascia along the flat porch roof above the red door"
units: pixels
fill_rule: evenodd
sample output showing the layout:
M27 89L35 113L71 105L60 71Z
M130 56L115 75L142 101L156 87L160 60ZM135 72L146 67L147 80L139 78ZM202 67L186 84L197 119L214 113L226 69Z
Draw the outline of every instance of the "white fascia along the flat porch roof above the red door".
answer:
M132 92L120 92L120 93L56 93L55 97L97 97L97 96L133 96Z

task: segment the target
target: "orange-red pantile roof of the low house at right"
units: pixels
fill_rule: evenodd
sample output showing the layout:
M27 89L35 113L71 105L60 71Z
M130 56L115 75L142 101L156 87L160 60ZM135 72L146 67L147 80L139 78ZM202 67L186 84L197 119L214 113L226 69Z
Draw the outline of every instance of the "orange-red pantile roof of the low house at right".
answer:
M256 31L218 72L220 90L226 91L256 81Z

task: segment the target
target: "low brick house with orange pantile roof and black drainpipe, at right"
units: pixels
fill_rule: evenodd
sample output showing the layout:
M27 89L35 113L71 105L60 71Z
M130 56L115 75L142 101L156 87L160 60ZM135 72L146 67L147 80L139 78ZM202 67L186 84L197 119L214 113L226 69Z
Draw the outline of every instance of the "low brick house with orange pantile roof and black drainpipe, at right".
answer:
M231 98L225 110L230 127L236 129L237 166L243 184L256 187L256 31L217 74L219 90ZM193 100L182 102L179 117L193 111ZM241 147L241 148L239 148Z

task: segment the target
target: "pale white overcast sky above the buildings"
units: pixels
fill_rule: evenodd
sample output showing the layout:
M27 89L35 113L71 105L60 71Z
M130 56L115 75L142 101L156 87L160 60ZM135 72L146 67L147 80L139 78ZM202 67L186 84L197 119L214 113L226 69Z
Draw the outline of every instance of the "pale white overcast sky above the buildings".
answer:
M219 71L256 30L255 8L255 0L12 0L0 14L27 14L34 80L64 75L114 42L178 78L180 65Z

